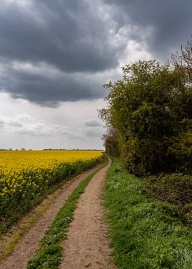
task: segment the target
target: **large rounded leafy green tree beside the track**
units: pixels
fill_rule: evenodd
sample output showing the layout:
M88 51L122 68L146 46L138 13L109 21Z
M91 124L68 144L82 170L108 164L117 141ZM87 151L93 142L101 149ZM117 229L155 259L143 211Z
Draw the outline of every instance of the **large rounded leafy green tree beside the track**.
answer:
M118 132L125 167L137 175L174 169L169 147L185 115L181 97L187 86L182 71L139 61L123 67L122 80L104 87L109 90L108 108L100 115Z

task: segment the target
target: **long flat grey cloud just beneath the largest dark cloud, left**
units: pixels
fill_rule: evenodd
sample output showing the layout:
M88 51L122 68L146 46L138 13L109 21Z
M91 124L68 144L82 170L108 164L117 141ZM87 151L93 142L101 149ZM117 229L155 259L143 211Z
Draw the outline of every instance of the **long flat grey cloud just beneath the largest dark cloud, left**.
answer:
M104 97L99 82L86 79L84 74L62 73L46 76L9 69L0 82L14 98L27 99L43 106L57 106L59 102L90 100Z

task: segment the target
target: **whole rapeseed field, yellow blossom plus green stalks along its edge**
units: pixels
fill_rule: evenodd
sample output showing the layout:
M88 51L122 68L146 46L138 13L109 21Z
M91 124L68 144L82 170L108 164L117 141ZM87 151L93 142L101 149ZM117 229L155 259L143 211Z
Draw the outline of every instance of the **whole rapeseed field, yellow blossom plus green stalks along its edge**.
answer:
M0 235L38 204L51 186L102 158L99 151L0 151Z

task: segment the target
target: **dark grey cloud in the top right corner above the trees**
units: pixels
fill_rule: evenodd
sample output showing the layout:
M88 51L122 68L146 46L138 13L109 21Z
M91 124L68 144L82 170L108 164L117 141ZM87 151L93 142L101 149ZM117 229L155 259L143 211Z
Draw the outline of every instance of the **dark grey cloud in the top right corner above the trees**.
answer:
M119 27L126 23L154 30L147 40L149 51L161 60L167 60L192 34L191 0L104 0L117 10ZM133 33L139 39L139 34Z

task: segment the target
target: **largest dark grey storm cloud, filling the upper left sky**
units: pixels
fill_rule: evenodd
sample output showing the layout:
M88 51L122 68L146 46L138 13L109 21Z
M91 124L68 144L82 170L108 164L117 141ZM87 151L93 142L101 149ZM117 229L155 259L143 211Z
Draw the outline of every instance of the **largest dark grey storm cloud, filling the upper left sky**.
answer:
M30 1L29 1L30 3ZM117 65L108 28L85 1L3 1L0 56L47 62L62 71L102 71Z

